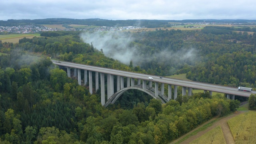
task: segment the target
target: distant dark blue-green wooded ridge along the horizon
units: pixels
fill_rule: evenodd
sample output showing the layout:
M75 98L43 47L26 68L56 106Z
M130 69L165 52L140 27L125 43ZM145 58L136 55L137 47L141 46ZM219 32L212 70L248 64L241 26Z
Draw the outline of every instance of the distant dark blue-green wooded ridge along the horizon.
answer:
M22 19L22 20L0 20L0 26L20 26L20 25L42 25L42 24L82 24L92 26L145 26L147 28L171 27L173 22L209 22L209 23L233 23L250 24L256 20L105 20L100 18L72 19L72 18L46 18L46 19Z

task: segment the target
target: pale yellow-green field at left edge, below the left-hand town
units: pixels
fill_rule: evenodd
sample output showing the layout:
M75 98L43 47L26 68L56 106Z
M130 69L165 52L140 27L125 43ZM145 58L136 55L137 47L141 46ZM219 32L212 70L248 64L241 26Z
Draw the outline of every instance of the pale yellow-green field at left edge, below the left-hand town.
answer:
M0 40L2 40L2 42L18 43L22 38L33 38L34 36L38 37L40 34L5 34L0 35Z

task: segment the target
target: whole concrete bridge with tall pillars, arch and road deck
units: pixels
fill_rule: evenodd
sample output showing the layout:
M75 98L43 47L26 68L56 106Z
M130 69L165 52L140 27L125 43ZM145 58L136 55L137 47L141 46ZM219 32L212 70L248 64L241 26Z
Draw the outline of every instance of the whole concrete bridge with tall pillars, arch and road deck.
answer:
M172 85L174 86L174 100L177 98L178 86L182 87L182 96L192 95L192 89L209 91L227 94L227 98L234 100L236 96L249 97L250 94L256 94L256 92L244 92L238 91L237 88L220 86L216 84L207 84L202 82L193 82L186 80L178 80L172 78L160 78L159 76L152 76L148 74L140 74L135 72L126 72L122 70L114 70L110 68L102 68L97 66L88 66L84 64L76 64L72 62L63 62L58 60L52 60L52 62L58 65L60 68L66 68L68 77L71 77L71 70L74 73L74 77L78 79L78 84L82 85L81 70L84 70L84 84L89 82L90 94L93 93L92 72L95 72L95 91L99 89L101 92L101 104L102 106L108 106L108 104L114 104L116 100L129 89L137 89L146 92L155 99L161 100L162 104L168 102L172 98ZM105 75L107 76L107 101L105 102ZM100 76L100 81L99 81ZM114 76L116 76L116 91L114 92ZM153 80L148 77L152 77ZM126 78L127 86L124 87L124 78ZM89 80L88 80L89 79ZM135 84L135 80L137 83ZM154 82L154 87L152 83ZM148 83L148 85L147 85ZM161 90L158 90L158 85L161 84ZM168 95L164 95L164 84L168 85ZM188 90L188 93L186 93Z

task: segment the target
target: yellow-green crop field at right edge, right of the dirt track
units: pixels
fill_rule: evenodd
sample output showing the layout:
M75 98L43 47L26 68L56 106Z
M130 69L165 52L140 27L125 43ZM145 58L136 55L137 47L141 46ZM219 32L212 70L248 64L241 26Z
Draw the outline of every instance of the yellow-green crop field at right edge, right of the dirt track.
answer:
M228 120L228 126L236 144L255 144L256 112L249 111Z

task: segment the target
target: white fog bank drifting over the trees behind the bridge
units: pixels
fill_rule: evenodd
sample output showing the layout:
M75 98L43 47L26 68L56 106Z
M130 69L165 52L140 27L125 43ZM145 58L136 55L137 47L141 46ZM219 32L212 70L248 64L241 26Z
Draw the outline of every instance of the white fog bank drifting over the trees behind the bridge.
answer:
M171 48L154 50L153 54L141 54L142 50L132 46L134 38L128 32L93 32L82 33L81 38L86 43L92 43L94 48L103 50L105 56L129 64L132 60L134 66L142 66L144 63L157 62L158 66L170 66L177 64L194 64L198 60L198 51L195 48L184 48L172 51ZM156 49L156 48L155 48Z

